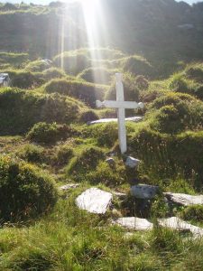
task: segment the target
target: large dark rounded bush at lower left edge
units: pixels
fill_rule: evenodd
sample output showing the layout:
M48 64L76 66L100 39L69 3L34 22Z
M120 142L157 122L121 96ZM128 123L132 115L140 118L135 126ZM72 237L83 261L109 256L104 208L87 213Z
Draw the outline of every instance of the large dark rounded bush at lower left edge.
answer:
M0 157L0 218L21 221L47 212L57 200L51 177L30 164Z

